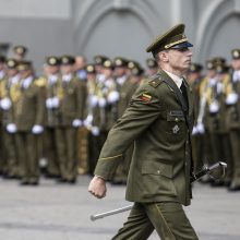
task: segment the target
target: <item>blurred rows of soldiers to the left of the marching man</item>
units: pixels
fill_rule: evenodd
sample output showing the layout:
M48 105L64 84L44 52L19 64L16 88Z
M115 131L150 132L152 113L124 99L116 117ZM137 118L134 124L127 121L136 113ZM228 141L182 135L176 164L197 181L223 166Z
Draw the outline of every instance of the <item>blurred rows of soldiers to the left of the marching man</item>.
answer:
M47 177L75 183L77 173L93 173L108 131L125 110L144 69L135 61L96 56L50 56L36 76L27 49L0 57L0 171L21 184L39 183L40 165ZM149 74L157 71L147 60ZM132 147L112 183L125 183Z

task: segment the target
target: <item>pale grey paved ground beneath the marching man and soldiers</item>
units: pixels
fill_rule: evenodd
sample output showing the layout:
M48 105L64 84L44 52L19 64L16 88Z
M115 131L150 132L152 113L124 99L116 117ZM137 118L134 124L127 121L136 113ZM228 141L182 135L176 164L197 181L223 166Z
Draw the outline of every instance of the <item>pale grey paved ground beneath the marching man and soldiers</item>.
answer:
M108 195L96 200L87 193L89 178L76 185L41 179L38 187L20 187L0 179L0 239L2 240L108 240L128 213L96 221L89 215L119 208L124 187L109 185ZM189 218L203 240L240 240L240 192L228 193L197 183ZM158 239L153 233L149 240Z

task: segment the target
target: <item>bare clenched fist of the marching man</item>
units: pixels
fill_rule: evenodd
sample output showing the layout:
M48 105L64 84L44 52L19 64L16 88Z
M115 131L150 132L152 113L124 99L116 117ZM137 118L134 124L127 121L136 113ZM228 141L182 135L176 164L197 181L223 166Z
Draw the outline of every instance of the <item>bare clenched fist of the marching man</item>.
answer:
M105 197L107 193L106 180L95 176L88 185L88 192L97 199Z

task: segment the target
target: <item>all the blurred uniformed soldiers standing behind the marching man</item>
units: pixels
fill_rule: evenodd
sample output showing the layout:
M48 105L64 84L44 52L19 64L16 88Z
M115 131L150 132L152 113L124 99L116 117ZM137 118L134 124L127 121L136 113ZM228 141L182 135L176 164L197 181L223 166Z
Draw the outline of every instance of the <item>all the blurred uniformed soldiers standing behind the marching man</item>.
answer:
M93 175L108 131L123 115L140 84L158 71L154 59L145 70L135 60L95 56L47 56L43 74L26 60L27 48L0 56L0 172L22 185L43 175L75 183ZM230 52L229 52L230 55ZM213 187L240 190L240 49L231 62L216 57L192 63L187 79L195 92L192 132L194 170L226 161L224 178L206 177ZM173 120L172 120L173 121ZM133 145L117 168L112 184L127 182Z

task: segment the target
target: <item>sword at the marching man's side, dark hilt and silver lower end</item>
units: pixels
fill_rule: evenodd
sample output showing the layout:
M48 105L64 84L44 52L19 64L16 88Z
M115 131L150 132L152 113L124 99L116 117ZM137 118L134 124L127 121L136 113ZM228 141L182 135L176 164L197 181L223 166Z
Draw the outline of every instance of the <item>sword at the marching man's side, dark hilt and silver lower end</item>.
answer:
M216 163L216 164L214 164L209 167L207 167L205 165L201 171L199 171L196 175L193 175L190 178L191 183L199 180L199 179L201 179L205 175L209 175L211 172L213 172L214 170L216 170L218 168L221 168L225 172L225 169L227 168L227 164L224 163L224 161L218 161L218 163ZM113 209L113 211L108 211L108 212L105 212L105 213L101 213L101 214L91 215L91 220L97 220L99 218L104 218L104 217L111 216L111 215L115 215L115 214L123 213L123 212L130 211L131 208L132 208L132 205L129 205L129 206L123 206L121 208L117 208L117 209Z

